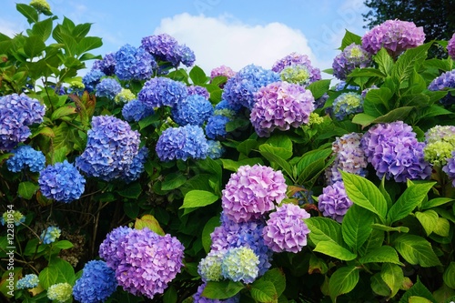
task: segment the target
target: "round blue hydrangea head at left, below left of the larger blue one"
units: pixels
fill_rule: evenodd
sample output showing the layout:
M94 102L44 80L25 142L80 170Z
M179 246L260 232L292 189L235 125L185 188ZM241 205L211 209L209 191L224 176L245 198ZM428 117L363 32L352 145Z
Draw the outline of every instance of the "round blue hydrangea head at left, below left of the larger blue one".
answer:
M43 196L59 202L72 202L84 193L86 179L68 161L45 167L38 177Z

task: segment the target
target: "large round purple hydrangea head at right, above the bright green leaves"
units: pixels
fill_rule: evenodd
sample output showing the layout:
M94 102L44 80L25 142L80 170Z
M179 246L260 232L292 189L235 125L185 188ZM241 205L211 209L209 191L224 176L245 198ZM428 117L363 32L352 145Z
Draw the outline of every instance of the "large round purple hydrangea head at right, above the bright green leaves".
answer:
M402 121L378 124L362 136L361 146L376 175L396 182L426 179L431 167L423 157L425 143L417 141L412 127Z

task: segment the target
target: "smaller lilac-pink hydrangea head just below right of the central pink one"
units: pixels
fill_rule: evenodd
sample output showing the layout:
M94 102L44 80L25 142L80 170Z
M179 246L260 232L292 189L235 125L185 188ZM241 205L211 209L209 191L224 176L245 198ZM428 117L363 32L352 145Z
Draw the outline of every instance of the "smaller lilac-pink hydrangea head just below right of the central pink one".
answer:
M293 204L283 204L272 212L262 229L264 242L275 252L298 253L307 246L308 212Z

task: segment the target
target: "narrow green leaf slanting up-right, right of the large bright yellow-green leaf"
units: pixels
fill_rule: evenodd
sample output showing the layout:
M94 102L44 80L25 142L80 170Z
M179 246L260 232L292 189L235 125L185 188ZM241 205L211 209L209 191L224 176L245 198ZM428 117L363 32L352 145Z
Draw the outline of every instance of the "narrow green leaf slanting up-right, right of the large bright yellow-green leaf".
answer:
M436 182L430 183L421 183L421 184L411 184L406 190L401 194L397 202L393 204L389 209L387 214L387 222L391 225L394 222L407 217L410 212L427 197L428 192L431 187L433 187Z

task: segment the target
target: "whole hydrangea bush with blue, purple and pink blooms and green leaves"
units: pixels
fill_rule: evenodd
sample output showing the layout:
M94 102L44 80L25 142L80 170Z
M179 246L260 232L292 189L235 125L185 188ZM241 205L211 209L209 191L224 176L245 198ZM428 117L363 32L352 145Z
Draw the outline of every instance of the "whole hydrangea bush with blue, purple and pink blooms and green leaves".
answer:
M453 38L389 20L323 72L204 71L170 35L99 56L91 24L16 8L2 302L455 300Z

